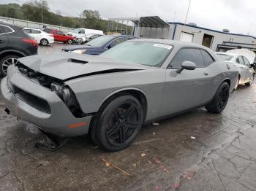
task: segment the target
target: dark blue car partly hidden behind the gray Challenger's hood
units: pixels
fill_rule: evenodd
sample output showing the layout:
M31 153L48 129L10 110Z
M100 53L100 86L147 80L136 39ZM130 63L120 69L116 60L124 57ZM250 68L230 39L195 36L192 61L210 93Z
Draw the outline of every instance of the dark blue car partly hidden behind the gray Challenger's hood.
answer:
M87 55L99 55L102 52L105 52L106 50L110 49L111 47L120 44L121 42L135 38L137 37L129 35L104 35L99 36L98 38L93 39L84 45L73 45L63 47L62 51L75 52Z

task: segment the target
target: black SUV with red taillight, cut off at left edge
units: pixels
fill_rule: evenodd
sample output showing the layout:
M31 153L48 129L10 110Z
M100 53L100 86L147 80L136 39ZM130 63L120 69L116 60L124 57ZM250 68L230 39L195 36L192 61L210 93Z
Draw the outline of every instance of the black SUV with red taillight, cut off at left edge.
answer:
M37 54L37 41L18 26L0 22L0 74L7 75L10 65L17 59Z

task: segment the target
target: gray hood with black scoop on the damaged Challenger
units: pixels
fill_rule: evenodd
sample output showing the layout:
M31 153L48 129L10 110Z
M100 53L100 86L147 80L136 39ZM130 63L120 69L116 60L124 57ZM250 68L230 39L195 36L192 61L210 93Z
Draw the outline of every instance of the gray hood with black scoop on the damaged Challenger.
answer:
M48 55L32 55L19 58L18 61L41 74L61 80L75 77L102 74L116 71L151 69L136 63L121 63L98 55L79 55L69 52L58 52Z

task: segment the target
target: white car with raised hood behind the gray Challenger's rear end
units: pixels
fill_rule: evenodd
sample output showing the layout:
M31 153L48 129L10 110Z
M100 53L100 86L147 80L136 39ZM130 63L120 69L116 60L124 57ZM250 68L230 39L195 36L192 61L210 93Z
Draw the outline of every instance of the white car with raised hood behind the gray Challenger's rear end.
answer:
M217 56L225 63L233 63L238 68L239 76L237 85L252 85L255 79L253 64L249 63L244 55L233 54L230 52L216 52Z

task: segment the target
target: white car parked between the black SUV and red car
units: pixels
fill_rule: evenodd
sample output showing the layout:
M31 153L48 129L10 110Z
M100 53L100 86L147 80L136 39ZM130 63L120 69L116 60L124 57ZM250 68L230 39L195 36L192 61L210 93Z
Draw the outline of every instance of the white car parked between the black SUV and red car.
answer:
M35 40L37 40L37 43L41 44L42 46L46 46L54 42L54 37L52 34L45 33L45 31L42 31L40 29L23 28L23 31L26 34L29 34L30 36L32 36Z

